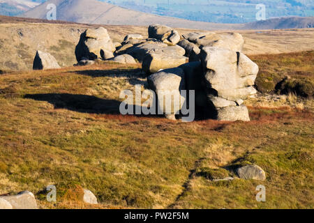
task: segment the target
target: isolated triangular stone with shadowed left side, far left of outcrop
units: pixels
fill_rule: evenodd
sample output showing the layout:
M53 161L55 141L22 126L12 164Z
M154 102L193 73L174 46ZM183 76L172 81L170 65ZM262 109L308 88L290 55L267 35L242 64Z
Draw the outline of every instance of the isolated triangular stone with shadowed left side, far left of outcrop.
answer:
M59 69L57 60L51 54L38 50L33 59L33 70Z

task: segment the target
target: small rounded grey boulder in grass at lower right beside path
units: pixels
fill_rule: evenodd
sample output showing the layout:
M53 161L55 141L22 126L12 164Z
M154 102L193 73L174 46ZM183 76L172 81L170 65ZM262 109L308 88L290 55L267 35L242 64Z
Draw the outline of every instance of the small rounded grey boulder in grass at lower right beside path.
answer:
M251 165L246 167L240 167L237 169L237 174L239 178L246 180L266 180L265 172L262 168L257 165Z

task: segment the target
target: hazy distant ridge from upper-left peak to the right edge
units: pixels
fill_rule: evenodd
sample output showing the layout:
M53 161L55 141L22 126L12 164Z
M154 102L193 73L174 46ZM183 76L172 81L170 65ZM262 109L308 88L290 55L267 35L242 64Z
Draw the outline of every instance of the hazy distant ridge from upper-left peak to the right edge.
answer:
M57 6L57 20L84 24L147 26L149 24L159 23L172 27L203 30L299 29L314 26L314 17L286 17L246 24L195 22L174 17L142 13L96 0L50 0L24 13L22 17L45 19L48 12L47 5L50 3L54 3Z

